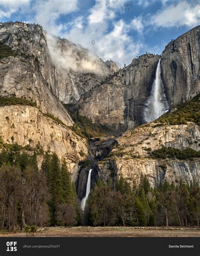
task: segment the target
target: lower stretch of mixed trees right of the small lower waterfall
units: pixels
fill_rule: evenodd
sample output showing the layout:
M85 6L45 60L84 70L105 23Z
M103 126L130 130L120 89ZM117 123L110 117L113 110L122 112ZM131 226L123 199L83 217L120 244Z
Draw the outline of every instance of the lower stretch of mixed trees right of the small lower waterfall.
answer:
M115 186L98 181L90 192L88 224L94 226L199 226L200 188L197 183L152 188L146 176L130 187L123 178Z

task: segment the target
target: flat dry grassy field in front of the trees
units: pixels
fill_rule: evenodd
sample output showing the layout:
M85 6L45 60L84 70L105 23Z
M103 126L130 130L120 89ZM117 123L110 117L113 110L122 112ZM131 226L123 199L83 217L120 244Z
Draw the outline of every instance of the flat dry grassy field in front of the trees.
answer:
M38 228L40 230L42 228ZM24 231L0 231L0 237L32 237ZM200 237L200 228L135 228L135 227L48 227L35 237Z

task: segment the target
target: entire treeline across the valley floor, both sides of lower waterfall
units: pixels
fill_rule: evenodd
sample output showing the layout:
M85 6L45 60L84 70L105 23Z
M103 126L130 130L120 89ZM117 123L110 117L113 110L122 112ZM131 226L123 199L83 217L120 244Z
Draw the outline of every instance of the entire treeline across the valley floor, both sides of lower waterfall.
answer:
M66 162L46 152L38 168L36 153L13 144L0 152L0 225L24 226L199 226L200 188L197 183L165 181L152 188L146 176L138 186L123 177L97 181L86 209L71 182Z

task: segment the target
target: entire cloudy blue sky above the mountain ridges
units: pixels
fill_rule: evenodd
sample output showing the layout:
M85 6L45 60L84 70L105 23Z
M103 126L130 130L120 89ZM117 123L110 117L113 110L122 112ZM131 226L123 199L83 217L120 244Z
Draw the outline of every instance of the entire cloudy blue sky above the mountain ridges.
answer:
M119 66L200 25L200 0L0 0L0 21L38 23Z

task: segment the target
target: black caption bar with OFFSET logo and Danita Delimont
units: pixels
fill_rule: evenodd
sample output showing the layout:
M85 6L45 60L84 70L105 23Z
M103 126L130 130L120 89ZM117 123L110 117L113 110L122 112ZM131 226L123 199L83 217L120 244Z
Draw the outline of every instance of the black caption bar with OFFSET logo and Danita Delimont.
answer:
M33 248L32 246L35 245L55 245L55 247ZM169 248L169 245L174 245L176 248ZM191 247L180 248L180 245ZM200 256L200 239L199 237L1 237L0 256L7 255Z

